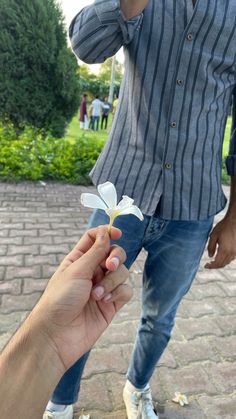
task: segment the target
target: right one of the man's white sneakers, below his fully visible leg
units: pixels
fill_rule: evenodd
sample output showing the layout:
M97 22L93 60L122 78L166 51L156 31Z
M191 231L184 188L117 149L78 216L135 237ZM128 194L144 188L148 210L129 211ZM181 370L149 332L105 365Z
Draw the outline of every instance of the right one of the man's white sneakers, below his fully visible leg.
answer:
M145 391L123 391L128 419L158 419L155 413L150 388Z

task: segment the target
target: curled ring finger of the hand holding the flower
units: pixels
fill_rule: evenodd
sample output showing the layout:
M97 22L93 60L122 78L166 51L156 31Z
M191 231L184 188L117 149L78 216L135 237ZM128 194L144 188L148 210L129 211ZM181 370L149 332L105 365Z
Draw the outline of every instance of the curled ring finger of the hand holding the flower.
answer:
M108 301L114 290L121 284L123 284L129 277L129 271L124 265L121 265L117 271L110 272L105 275L104 279L97 284L92 292L91 298L99 301Z

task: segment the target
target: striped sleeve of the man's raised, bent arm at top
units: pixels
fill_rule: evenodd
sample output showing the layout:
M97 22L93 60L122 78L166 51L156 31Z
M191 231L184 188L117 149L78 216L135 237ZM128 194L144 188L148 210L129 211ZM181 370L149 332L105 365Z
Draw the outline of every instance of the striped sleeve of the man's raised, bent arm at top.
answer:
M74 53L88 64L102 63L129 44L142 22L142 15L126 20L120 0L95 0L75 16L69 28Z

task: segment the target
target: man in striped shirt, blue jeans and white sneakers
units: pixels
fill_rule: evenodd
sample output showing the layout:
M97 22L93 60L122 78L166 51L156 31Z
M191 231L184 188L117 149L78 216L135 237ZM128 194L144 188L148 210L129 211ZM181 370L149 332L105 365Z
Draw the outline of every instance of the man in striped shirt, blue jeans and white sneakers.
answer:
M142 314L124 389L128 419L154 419L149 380L170 339L226 198L221 156L228 106L236 103L235 0L96 0L70 27L72 47L87 63L121 46L125 74L107 144L91 176L115 184L144 213L121 217L121 245L130 266L147 251ZM236 255L236 112L230 153L229 209L213 229L206 268ZM103 224L96 211L91 225ZM64 376L52 401L75 402L87 356ZM64 406L65 407L65 406ZM50 416L51 417L51 416ZM56 415L52 417L59 417ZM66 407L65 407L65 416Z

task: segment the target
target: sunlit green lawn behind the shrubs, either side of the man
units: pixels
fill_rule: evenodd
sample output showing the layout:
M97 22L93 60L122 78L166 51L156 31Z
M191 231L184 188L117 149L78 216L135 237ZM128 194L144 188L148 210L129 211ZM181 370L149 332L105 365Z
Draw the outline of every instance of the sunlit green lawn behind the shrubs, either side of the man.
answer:
M112 123L112 115L109 116L108 128L111 126L111 123ZM226 129L225 129L225 140L224 140L224 146L223 146L223 161L228 154L230 130L231 130L231 117L228 118ZM85 138L86 136L88 136L90 139L91 137L93 137L94 141L96 141L97 139L106 141L106 139L108 138L108 131L105 131L105 130L103 131L99 130L98 132L81 131L80 126L79 126L79 117L76 116L73 118L73 120L71 121L71 124L69 125L66 138L68 139L70 143L74 143L78 135L81 136L81 132L83 132ZM223 164L222 182L224 184L229 184L230 182L229 176L226 173L225 164Z

